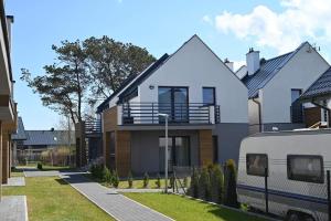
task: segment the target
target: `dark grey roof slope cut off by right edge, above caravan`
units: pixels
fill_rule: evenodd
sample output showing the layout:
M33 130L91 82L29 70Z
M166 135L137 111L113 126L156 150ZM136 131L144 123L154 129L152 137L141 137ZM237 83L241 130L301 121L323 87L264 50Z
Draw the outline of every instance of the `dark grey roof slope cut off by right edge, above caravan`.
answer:
M310 87L300 96L301 101L331 97L331 67L328 69Z

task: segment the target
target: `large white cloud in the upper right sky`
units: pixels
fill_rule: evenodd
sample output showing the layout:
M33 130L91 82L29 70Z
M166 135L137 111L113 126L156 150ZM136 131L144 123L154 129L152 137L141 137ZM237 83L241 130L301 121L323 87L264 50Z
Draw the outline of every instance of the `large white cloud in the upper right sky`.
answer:
M279 53L297 48L302 41L331 42L330 0L281 0L281 12L257 6L250 13L224 11L215 17L215 27L253 40L259 46L270 46Z

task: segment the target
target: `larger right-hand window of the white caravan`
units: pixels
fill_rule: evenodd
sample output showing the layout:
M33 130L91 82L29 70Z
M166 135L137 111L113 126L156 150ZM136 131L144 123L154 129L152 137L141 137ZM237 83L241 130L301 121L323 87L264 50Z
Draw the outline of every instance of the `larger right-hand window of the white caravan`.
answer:
M287 177L290 180L323 183L323 158L311 155L287 156Z

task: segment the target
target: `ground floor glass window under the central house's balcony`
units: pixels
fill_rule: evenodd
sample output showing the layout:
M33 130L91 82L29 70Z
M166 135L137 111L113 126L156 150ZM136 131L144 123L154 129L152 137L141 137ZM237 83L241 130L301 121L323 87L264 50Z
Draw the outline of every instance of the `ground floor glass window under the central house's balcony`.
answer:
M164 171L164 148L166 138L159 138L160 147L160 170ZM190 137L169 137L168 138L168 168L172 171L173 166L191 166Z

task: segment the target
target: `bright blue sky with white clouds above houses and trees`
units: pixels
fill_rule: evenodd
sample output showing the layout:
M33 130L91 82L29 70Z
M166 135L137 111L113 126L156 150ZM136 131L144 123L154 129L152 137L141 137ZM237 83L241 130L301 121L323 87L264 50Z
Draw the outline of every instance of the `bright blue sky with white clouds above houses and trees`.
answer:
M15 99L28 129L56 127L60 116L42 106L19 80L22 67L43 74L54 61L52 44L108 35L147 48L159 57L172 53L193 34L221 57L245 60L254 46L270 57L309 40L329 61L331 4L328 0L7 0L12 25ZM312 8L312 9L311 9Z

